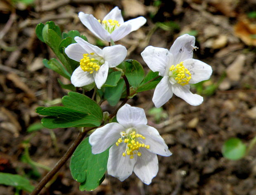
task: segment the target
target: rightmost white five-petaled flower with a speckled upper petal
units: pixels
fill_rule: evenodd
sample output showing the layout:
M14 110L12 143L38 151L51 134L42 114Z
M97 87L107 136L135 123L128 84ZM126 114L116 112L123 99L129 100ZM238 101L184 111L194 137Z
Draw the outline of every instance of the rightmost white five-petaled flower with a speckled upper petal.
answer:
M210 78L211 66L192 59L195 37L188 34L178 37L170 51L164 48L147 46L141 56L153 72L163 76L156 86L152 101L161 107L173 93L192 106L203 102L203 97L190 92L190 84Z

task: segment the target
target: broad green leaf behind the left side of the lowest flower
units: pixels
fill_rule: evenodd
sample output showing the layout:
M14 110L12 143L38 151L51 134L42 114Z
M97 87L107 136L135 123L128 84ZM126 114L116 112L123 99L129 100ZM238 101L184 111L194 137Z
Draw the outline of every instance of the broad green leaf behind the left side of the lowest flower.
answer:
M89 137L79 144L71 157L70 171L73 179L81 182L81 191L94 190L102 183L107 170L108 156L109 149L100 154L92 154Z

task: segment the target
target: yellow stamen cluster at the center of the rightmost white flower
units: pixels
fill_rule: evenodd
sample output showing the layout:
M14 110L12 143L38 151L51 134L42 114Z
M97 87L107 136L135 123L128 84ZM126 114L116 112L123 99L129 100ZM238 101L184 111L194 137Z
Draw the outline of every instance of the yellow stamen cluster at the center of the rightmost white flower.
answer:
M174 84L178 83L181 86L187 85L191 79L191 73L187 68L184 67L183 62L175 65L172 65L169 69L169 81Z

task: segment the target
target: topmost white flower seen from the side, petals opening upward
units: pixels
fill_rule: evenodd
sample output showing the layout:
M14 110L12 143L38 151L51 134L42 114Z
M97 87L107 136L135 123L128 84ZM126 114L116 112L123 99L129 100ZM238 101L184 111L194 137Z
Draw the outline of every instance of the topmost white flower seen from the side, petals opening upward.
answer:
M146 19L142 16L123 21L121 10L118 7L109 12L102 22L97 20L92 14L85 14L79 12L79 19L96 37L104 41L110 42L110 39L113 41L118 41L128 35L130 32L139 29L146 23Z

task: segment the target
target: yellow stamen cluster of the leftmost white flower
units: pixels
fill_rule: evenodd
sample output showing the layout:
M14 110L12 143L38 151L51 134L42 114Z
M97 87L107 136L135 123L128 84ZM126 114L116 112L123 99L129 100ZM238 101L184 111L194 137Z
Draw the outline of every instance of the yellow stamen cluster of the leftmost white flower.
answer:
M83 58L80 60L80 67L83 71L90 72L92 74L94 71L98 71L100 69L101 63L96 60L95 58L92 58L92 55L94 53L84 53Z

